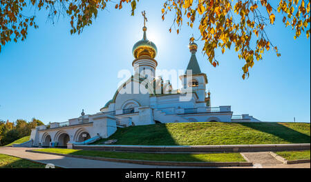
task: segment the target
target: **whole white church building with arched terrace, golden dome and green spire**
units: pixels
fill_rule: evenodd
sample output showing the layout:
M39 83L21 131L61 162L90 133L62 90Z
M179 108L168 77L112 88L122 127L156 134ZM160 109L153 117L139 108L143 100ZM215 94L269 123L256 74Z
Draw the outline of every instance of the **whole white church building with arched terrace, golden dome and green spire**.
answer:
M133 125L258 121L248 114L233 115L230 105L211 107L207 75L201 72L196 59L196 43L190 43L187 71L179 76L182 88L173 89L170 81L156 77L157 48L147 39L146 32L144 26L143 39L133 46L133 76L120 85L100 112L82 111L80 117L66 122L40 125L32 130L26 144L42 147L88 144L108 138L117 128Z

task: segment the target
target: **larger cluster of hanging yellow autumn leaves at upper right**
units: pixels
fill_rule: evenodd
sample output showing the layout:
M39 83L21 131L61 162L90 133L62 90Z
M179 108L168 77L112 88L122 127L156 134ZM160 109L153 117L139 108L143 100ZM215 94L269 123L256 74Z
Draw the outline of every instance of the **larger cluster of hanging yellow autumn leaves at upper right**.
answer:
M291 26L296 32L294 39L301 35L301 31L310 36L310 1L279 0L276 9L272 6L269 0L167 0L162 9L162 19L167 12L175 12L173 23L177 25L178 33L184 16L191 28L199 18L198 29L202 41L205 41L202 52L207 54L209 62L216 67L215 50L220 48L224 54L234 44L238 58L245 60L242 68L245 79L254 60L263 59L265 50L272 48L278 57L281 56L265 32L269 24L274 25L274 13L283 14L285 26ZM190 41L194 41L194 38Z

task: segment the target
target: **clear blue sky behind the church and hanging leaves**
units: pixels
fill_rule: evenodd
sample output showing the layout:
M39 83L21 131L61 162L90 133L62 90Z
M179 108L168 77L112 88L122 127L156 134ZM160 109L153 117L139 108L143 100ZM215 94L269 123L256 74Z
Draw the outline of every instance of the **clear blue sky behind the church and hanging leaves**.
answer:
M44 123L62 122L100 111L112 99L117 72L132 70L133 45L142 39L146 10L147 37L158 47L158 69L184 69L190 59L187 44L191 34L199 37L195 24L182 26L180 34L169 28L173 18L161 19L162 1L144 0L134 17L130 8L115 10L111 4L99 12L93 25L80 35L70 35L67 18L52 25L47 14L37 12L39 29L29 29L26 41L8 43L0 53L0 119L16 121L32 117ZM244 62L236 52L216 52L220 65L214 68L198 51L202 72L207 74L211 105L232 105L234 114L250 114L262 121L310 122L310 39L303 34L294 40L291 28L285 28L282 17L276 26L268 27L270 40L281 57L265 52L256 61L249 79L243 80ZM198 41L199 50L203 43Z

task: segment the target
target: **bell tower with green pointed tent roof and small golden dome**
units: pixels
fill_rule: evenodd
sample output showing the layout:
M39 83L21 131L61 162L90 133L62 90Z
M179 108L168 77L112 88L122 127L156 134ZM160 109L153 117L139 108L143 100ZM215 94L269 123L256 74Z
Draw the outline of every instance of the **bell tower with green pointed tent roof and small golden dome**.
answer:
M191 52L191 58L187 70L184 75L180 76L183 90L184 92L195 92L198 96L198 100L196 101L198 107L206 107L205 90L208 81L206 74L201 72L198 60L196 59L198 45L196 43L191 43L189 45L189 50Z

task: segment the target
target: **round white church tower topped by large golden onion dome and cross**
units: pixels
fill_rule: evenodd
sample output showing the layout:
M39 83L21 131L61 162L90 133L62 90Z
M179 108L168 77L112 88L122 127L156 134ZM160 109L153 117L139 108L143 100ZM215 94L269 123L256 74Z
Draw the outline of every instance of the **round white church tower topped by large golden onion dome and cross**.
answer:
M146 13L142 12L144 17L144 27L142 30L144 31L144 36L142 40L135 43L133 46L133 56L135 60L132 65L134 68L134 75L142 75L141 77L148 77L148 79L152 80L156 77L156 67L158 62L156 59L156 54L158 52L156 44L147 39L147 27L146 27Z

